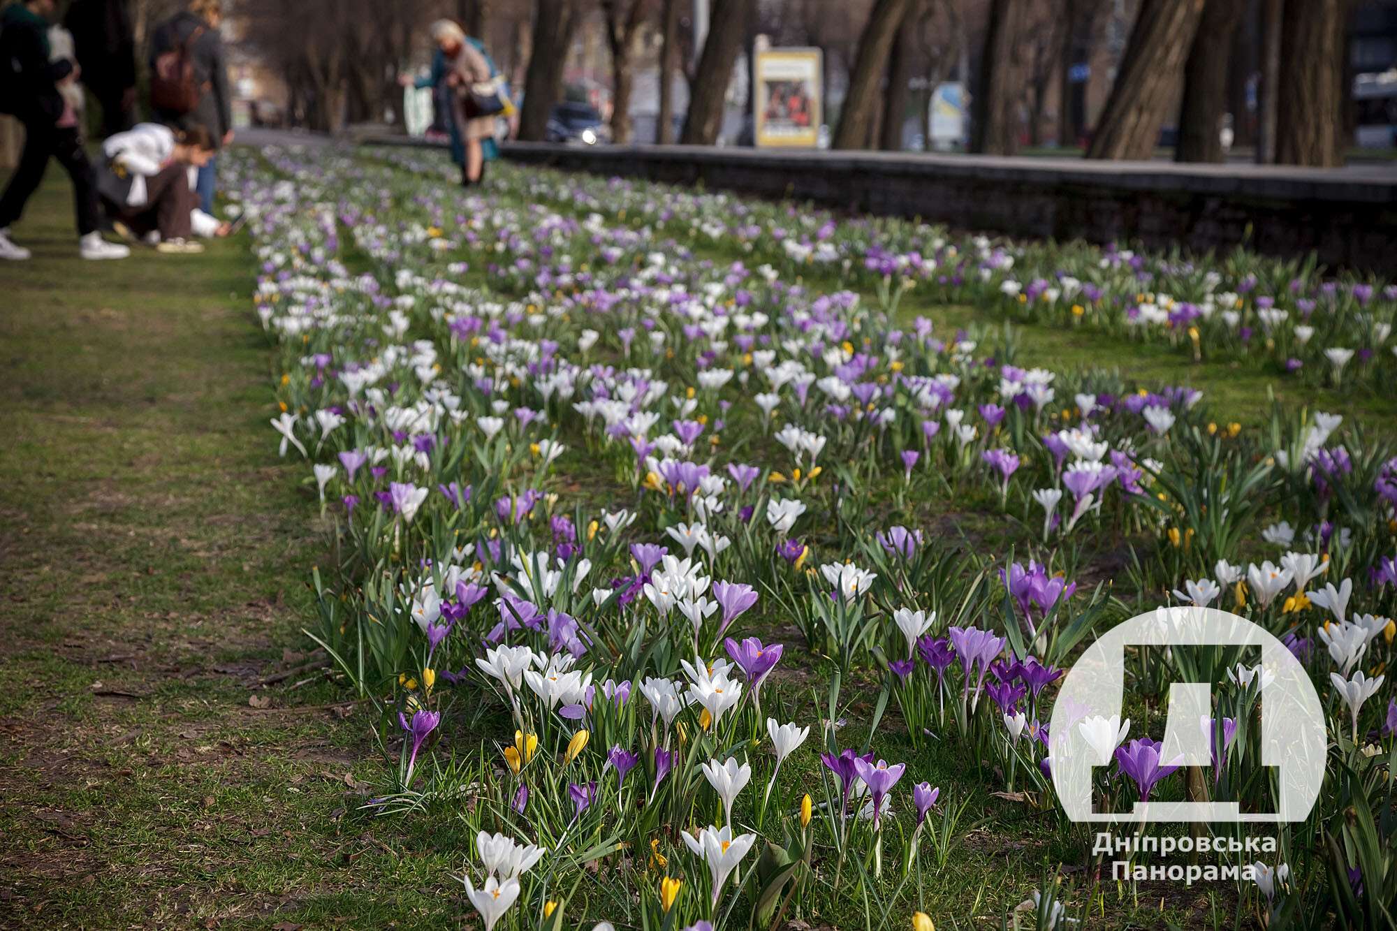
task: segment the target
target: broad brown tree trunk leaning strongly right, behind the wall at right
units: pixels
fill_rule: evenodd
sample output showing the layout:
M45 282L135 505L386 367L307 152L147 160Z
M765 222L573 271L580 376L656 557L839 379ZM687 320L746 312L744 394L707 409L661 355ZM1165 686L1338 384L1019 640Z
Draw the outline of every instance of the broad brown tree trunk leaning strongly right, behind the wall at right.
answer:
M1176 102L1203 0L1144 0L1087 158L1147 159Z

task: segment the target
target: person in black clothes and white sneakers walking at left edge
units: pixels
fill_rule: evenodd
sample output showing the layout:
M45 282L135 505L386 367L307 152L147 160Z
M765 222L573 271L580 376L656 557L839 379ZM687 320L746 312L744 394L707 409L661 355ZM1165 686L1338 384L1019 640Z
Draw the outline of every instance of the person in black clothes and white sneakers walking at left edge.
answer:
M98 232L98 199L92 164L82 151L77 113L60 84L77 80L71 62L49 62L49 24L56 0L25 0L0 13L0 110L24 124L24 152L0 196L0 259L22 261L29 250L10 239L10 226L56 158L73 180L78 254L84 259L126 259L131 250L109 243Z

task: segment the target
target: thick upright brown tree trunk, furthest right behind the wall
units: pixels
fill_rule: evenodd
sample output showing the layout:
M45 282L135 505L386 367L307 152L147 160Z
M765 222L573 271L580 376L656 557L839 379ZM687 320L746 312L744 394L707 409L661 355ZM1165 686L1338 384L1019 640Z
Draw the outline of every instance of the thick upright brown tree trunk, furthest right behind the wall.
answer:
M1344 55L1348 0L1287 0L1275 94L1275 161L1344 164Z

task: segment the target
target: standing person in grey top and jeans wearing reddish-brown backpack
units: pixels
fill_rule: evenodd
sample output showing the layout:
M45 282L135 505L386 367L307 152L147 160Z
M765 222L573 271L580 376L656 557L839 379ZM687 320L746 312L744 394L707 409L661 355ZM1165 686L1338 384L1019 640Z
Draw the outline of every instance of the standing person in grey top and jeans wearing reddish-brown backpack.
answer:
M228 88L228 60L218 28L224 22L222 0L190 0L189 8L176 13L155 29L151 38L151 70L161 74L183 68L187 63L193 81L190 95L182 106L168 99L155 99L152 81L151 106L155 119L172 129L204 127L214 143L215 158L198 169L198 201L205 214L214 212L217 193L217 151L233 141L232 95ZM173 75L176 81L180 75Z

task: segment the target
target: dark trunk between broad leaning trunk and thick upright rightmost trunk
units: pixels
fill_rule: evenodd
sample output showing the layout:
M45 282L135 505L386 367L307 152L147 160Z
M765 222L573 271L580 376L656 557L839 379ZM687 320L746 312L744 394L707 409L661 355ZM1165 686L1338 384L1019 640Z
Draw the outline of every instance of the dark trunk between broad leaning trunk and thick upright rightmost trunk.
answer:
M1183 67L1183 101L1179 103L1178 162L1221 162L1222 113L1227 110L1227 77L1232 35L1246 4L1208 0L1199 21L1189 62ZM1234 115L1234 120L1239 115Z

